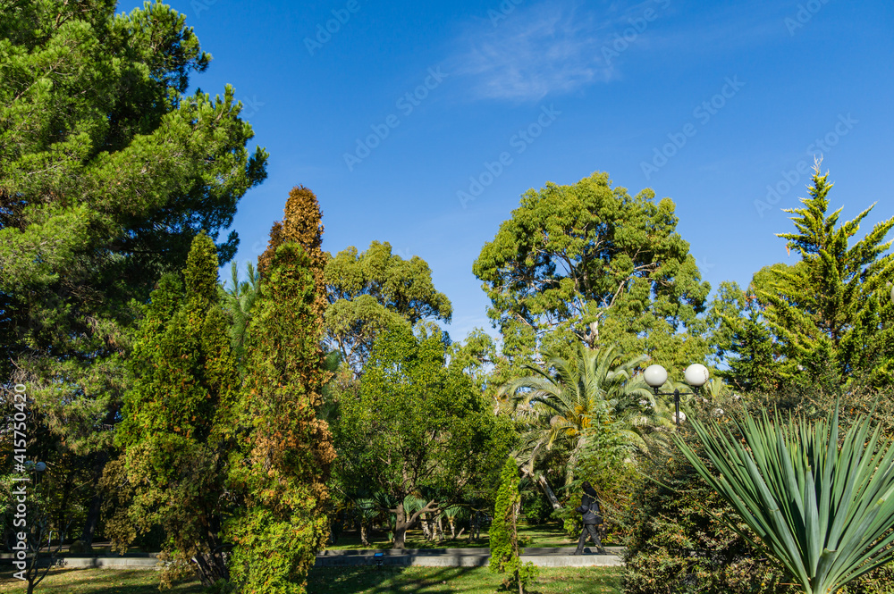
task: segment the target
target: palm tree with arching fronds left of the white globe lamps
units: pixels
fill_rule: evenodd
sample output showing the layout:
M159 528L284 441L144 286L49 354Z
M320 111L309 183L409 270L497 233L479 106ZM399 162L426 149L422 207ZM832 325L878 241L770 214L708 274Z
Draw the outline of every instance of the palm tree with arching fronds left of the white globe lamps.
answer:
M535 477L541 487L544 481L536 477L534 467L556 450L567 455L561 464L566 483L573 478L569 470L586 441L586 431L621 431L637 448L648 448L654 420L662 424L661 415L655 413L661 406L652 391L643 381L631 381L646 356L620 361L617 347L585 345L577 355L552 357L544 366L525 365L530 375L510 381L498 393L510 397L516 419L525 427L516 459L522 472ZM555 498L550 499L556 506Z

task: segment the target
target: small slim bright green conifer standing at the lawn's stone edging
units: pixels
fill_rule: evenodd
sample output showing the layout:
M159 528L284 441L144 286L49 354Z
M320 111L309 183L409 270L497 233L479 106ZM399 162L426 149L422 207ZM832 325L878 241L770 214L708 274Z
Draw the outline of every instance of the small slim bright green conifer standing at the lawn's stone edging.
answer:
M512 458L506 460L500 473L500 489L497 490L496 505L493 507L493 523L489 532L491 546L490 569L493 573L507 573L503 578L503 588L519 590L523 594L525 586L537 579L537 568L533 563L519 560L519 467Z

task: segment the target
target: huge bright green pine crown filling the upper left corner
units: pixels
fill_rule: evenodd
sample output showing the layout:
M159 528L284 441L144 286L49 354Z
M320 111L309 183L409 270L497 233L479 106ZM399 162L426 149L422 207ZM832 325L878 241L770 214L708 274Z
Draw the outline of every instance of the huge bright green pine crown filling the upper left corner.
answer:
M114 5L0 2L0 361L80 450L109 444L97 425L126 389L131 298L266 176L232 88L185 95L210 56L184 17ZM218 245L223 262L237 243Z

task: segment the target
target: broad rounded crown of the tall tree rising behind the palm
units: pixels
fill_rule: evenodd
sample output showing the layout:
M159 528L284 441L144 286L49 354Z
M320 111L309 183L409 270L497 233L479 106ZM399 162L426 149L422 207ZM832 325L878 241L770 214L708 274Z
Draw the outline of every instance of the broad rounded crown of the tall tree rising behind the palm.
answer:
M556 352L575 337L669 368L703 360L697 316L709 287L676 226L669 198L655 204L650 189L631 197L605 173L528 190L473 267L504 354Z

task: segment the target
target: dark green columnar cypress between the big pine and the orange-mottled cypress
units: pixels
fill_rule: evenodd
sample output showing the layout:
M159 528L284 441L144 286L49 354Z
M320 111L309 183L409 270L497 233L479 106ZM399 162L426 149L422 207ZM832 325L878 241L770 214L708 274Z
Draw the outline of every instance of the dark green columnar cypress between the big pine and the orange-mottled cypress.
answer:
M139 532L164 529L164 552L174 564L163 581L178 570L198 573L205 585L229 579L222 494L238 375L216 300L217 267L214 241L201 233L184 281L172 274L159 281L139 324L129 364L133 387L116 431L135 489L128 517Z

